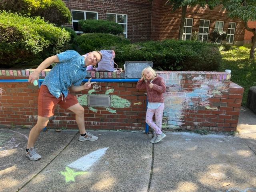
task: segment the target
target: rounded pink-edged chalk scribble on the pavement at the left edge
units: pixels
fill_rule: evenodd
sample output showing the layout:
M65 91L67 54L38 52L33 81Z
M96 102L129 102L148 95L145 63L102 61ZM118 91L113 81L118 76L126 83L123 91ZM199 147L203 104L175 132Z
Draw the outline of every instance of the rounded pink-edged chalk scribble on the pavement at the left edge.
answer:
M26 135L18 131L0 129L0 158L4 162L4 164L0 165L0 170L9 168L16 162L22 160L24 150L27 146L24 138L28 140Z

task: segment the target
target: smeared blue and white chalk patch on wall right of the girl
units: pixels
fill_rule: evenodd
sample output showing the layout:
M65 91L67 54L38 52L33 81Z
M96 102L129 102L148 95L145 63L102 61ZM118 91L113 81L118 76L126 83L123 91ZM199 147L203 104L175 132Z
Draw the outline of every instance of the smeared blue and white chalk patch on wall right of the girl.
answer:
M211 81L206 80L206 77L203 75L197 75L191 79L195 85L191 89L184 88L182 75L172 74L172 79L164 79L166 84L164 117L168 117L165 127L179 129L184 124L185 110L198 110L200 108L219 110L218 106L212 105L210 98L214 98L214 94L222 94L222 91L228 91L228 86L225 86L222 80L230 79L230 74L221 75L219 79ZM209 82L210 84L208 84ZM212 88L213 86L214 89ZM221 88L216 90L217 86ZM194 122L194 125L197 126L198 122Z

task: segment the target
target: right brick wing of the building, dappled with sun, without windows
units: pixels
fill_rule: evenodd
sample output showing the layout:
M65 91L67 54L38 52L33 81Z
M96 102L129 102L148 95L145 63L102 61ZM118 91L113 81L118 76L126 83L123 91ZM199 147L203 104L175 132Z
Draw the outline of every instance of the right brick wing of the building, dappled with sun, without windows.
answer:
M166 5L162 0L153 0L152 4L152 26L151 26L151 39L163 40L163 39L177 39L181 21L181 9L172 12L170 5ZM202 9L199 6L188 7L186 12L186 18L193 19L192 33L199 31L199 21L210 20L210 30L214 30L215 21L224 22L224 31L228 31L228 23L235 22L236 30L234 36L234 44L242 44L244 40L244 23L242 20L230 19L226 16L221 6L210 10L209 8Z

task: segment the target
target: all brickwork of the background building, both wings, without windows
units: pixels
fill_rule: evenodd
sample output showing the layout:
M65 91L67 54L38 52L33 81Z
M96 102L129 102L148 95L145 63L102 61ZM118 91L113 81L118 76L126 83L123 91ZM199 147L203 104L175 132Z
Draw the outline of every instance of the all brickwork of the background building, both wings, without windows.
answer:
M172 12L172 8L162 0L63 0L72 10L98 12L98 19L106 20L106 13L127 14L127 38L132 42L145 40L178 39L181 10ZM210 20L210 32L214 30L215 21L224 21L224 31L228 31L228 22L236 22L234 44L243 44L244 23L226 17L221 7L208 8L188 7L186 18L193 18L192 32L198 32L199 20ZM70 25L68 25L70 26ZM72 27L72 26L70 26Z

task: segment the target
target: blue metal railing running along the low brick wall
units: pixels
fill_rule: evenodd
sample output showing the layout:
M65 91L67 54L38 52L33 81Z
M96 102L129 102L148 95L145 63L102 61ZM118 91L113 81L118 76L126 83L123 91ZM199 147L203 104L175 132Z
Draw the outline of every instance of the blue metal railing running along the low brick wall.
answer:
M92 82L138 82L139 79L92 79ZM38 87L41 86L42 82L44 81L44 79L39 79L38 80ZM84 79L82 82L87 82L88 79ZM0 83L7 83L7 82L27 82L28 83L28 79L3 79L0 80ZM148 108L148 100L147 100L147 104L146 104L147 108ZM146 109L147 109L146 108ZM46 128L44 128L43 130L46 130ZM146 123L146 134L148 134L149 131L149 126Z

